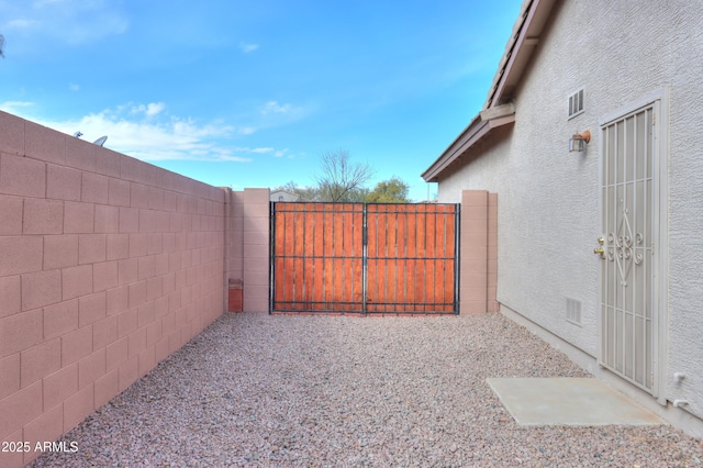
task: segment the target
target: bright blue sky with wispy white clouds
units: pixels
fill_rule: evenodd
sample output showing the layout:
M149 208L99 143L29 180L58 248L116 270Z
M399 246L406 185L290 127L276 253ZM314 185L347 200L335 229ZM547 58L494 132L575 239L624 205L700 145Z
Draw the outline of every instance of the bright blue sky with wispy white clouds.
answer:
M416 201L522 0L0 0L0 109L214 186L348 151Z

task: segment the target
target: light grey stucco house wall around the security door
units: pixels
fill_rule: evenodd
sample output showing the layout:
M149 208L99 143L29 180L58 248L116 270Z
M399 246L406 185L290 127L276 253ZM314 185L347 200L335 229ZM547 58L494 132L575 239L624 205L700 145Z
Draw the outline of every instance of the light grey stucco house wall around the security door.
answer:
M578 21L573 21L578 19ZM666 89L669 185L669 300L666 398L703 417L703 4L558 2L514 100L516 122L496 131L448 171L439 201L464 189L500 196L498 300L591 356L598 349L599 120ZM567 120L583 87L584 112ZM568 152L590 130L585 154ZM479 158L479 154L482 156ZM665 241L665 245L666 241ZM666 293L667 291L665 291ZM582 324L566 321L566 298L582 301ZM673 372L688 377L673 380Z

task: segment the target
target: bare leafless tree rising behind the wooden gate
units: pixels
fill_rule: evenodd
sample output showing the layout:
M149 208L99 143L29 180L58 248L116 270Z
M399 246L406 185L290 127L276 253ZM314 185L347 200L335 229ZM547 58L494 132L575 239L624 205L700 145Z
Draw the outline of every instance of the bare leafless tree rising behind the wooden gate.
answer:
M362 201L357 200L365 192L364 185L373 177L373 169L367 163L352 163L349 152L338 149L321 156L322 174L315 176L323 201Z

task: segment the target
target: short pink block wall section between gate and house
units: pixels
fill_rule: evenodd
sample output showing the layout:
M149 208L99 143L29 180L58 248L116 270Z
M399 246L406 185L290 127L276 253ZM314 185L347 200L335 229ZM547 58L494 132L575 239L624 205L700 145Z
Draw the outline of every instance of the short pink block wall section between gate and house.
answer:
M460 248L460 312L496 312L498 194L484 190L461 192Z

